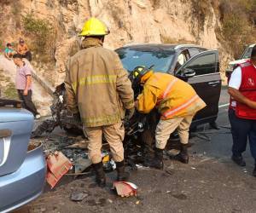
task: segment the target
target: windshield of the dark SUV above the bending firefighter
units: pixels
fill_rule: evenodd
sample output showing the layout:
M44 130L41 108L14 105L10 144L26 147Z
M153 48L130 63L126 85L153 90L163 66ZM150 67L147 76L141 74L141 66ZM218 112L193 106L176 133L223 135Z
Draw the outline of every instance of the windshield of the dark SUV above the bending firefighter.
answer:
M117 49L123 66L129 72L136 66L152 66L155 72L168 72L172 64L174 51L164 49Z

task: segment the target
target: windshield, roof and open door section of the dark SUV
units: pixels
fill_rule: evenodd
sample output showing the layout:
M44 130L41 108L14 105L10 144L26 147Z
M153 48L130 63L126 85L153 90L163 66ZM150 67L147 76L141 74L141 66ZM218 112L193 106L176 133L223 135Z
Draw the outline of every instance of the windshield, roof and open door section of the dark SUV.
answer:
M116 49L126 70L152 66L155 72L167 72L190 83L207 107L198 112L192 126L213 123L218 117L221 90L218 50L194 44L129 44ZM191 73L194 73L191 75Z

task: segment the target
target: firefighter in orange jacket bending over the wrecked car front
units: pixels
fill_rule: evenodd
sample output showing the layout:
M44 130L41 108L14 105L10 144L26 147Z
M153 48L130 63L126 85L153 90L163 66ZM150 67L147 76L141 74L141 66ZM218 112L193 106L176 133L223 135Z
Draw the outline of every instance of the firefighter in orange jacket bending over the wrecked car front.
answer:
M133 78L143 85L143 92L136 102L138 112L148 113L156 107L161 115L155 130L154 158L147 158L144 164L163 169L163 150L176 129L182 145L177 158L188 164L189 127L195 113L206 107L205 102L189 83L170 74L154 73L144 66L138 66L133 71Z

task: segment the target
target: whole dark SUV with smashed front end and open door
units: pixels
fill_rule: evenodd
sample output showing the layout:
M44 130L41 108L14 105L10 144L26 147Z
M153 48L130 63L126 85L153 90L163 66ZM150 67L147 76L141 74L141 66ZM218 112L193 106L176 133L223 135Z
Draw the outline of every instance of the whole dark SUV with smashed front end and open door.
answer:
M116 49L125 69L131 73L136 66L154 66L155 72L166 72L190 83L207 103L207 107L198 112L192 126L214 123L218 117L218 100L221 89L218 51L209 50L193 44L134 44ZM130 75L131 77L131 75ZM132 79L131 79L132 81ZM138 85L139 86L139 85ZM137 97L140 89L133 88ZM83 134L82 124L76 123L73 115L67 111L65 85L55 90L55 101L51 106L52 119L38 126L32 137L51 132L56 126L75 134ZM137 115L131 124L126 125L126 135L140 135L143 130L154 132L157 116ZM154 135L150 135L150 139ZM146 139L146 141L149 141Z

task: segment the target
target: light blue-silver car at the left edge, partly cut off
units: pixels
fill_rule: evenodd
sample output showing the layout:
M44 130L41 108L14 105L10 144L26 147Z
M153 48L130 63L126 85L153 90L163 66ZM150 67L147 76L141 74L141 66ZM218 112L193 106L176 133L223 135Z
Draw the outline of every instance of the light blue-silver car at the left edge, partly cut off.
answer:
M32 113L7 104L0 99L0 212L36 199L44 190L46 175L42 145L29 145Z

